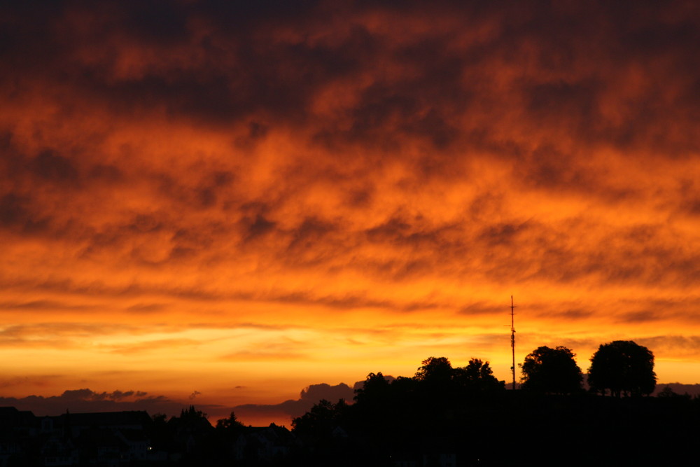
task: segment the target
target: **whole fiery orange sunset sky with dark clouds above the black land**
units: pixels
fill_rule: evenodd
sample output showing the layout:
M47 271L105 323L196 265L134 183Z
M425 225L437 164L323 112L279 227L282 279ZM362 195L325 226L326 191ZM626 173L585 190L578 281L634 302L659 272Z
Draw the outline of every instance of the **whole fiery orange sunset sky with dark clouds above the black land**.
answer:
M0 405L509 380L511 295L519 362L699 383L699 43L696 1L3 2Z

